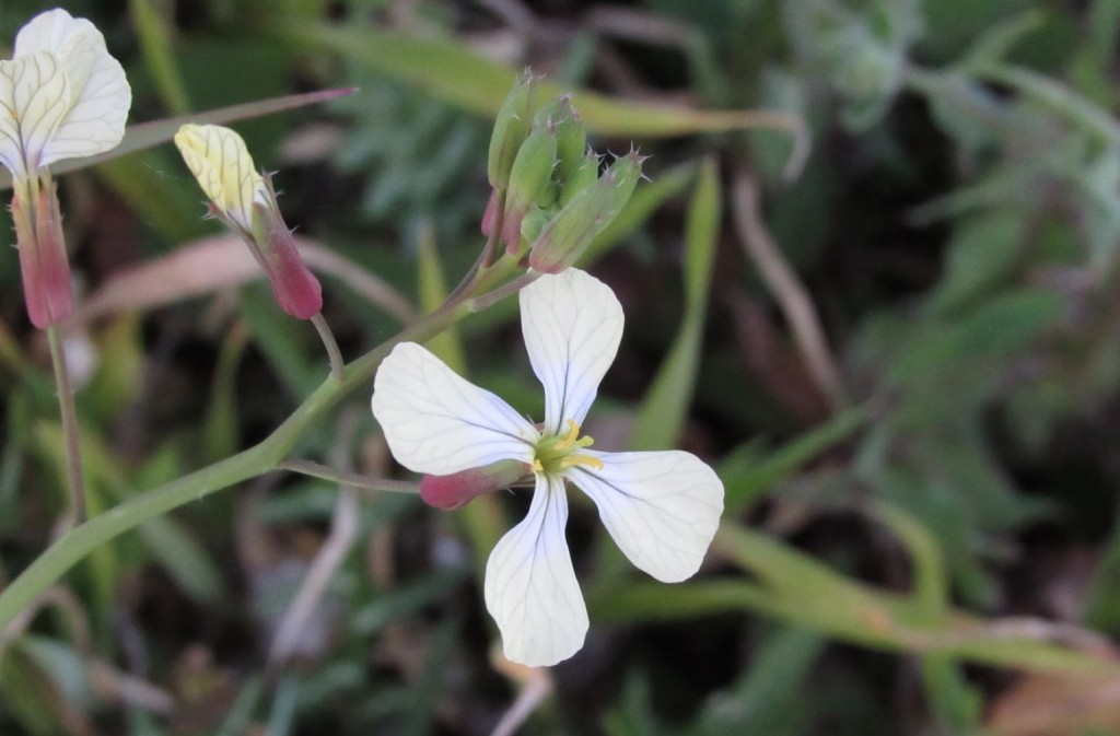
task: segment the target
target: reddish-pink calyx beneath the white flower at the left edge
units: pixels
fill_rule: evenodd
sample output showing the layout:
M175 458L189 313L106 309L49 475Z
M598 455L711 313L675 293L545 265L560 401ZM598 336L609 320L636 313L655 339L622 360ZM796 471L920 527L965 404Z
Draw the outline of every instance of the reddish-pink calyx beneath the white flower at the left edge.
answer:
M25 202L31 197L34 220ZM46 329L74 314L74 287L54 183L41 181L37 195L30 193L30 187L17 186L11 215L27 314L32 325Z

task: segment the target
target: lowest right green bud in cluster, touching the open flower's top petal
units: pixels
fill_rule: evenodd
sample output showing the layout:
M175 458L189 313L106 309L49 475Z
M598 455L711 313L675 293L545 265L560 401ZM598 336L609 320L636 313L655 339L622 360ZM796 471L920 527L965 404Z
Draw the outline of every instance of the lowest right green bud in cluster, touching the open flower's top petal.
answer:
M559 273L573 264L629 202L643 160L631 151L616 159L591 187L575 195L541 231L529 252L529 265L543 273Z

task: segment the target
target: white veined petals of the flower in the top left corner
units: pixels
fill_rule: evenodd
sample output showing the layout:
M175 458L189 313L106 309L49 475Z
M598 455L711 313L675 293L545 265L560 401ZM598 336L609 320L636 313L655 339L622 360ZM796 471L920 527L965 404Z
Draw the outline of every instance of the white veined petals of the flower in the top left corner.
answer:
M132 92L93 24L48 10L0 60L0 164L16 179L54 161L115 148Z

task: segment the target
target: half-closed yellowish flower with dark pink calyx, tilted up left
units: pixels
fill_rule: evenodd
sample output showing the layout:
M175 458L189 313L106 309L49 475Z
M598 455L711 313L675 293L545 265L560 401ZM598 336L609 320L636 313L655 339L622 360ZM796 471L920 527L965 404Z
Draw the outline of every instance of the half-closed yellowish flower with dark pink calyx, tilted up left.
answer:
M237 233L272 283L280 307L299 319L323 309L323 288L296 249L268 175L261 175L241 136L222 125L186 124L175 145L211 201L211 214Z

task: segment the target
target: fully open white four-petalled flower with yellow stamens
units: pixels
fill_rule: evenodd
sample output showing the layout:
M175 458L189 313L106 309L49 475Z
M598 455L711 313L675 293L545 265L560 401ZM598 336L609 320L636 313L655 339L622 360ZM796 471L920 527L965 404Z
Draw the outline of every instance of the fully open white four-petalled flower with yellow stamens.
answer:
M724 510L724 485L694 455L598 453L579 428L614 361L623 310L599 280L568 269L521 291L522 332L544 385L538 428L414 343L398 345L374 380L373 413L398 462L449 475L500 460L533 468L529 514L491 553L486 607L507 659L533 667L575 654L587 608L564 540L572 482L591 497L629 560L659 580L692 576Z

